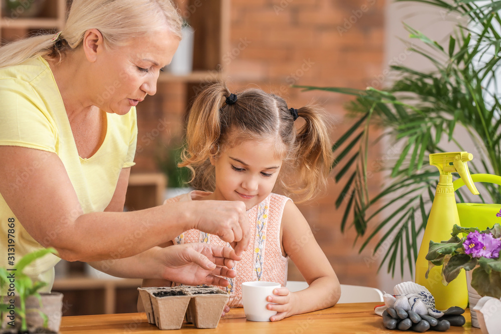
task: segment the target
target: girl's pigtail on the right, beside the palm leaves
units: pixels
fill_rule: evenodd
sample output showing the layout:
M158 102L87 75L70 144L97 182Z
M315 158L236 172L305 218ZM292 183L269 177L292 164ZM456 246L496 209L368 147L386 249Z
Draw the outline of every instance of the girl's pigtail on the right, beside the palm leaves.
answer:
M295 170L296 191L307 201L325 189L333 161L331 140L327 129L327 115L317 106L298 109L305 124L296 136ZM289 180L291 181L291 180Z

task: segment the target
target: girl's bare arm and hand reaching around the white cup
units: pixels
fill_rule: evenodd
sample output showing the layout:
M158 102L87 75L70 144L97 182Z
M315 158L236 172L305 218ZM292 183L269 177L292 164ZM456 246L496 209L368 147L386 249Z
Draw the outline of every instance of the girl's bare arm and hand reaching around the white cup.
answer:
M305 217L292 201L287 201L282 217L282 245L310 285L298 292L289 292L286 287L275 289L269 296L268 309L278 313L272 321L312 312L336 304L341 296L339 280L329 260L318 245Z

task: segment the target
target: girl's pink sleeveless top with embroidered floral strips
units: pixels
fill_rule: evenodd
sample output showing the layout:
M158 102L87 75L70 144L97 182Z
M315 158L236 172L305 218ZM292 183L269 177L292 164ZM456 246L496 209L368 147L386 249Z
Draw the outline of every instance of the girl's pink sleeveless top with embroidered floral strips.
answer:
M187 201L208 194L210 193L195 190L170 198L166 202ZM263 202L247 210L250 224L249 248L243 252L242 259L233 267L236 277L228 279L230 281L228 286L220 287L230 295L228 306L242 307L243 282L270 281L286 285L289 257L282 255L280 224L288 200L290 200L288 197L271 193ZM196 229L188 230L172 241L174 244L206 242L229 247L229 243L222 241L218 236Z

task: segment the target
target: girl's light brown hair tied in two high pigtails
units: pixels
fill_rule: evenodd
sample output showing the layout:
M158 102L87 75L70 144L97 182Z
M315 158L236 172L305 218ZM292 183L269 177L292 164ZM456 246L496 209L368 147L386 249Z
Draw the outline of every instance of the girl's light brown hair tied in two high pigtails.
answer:
M190 109L179 167L191 170L191 186L214 190L214 166L209 157L217 156L224 145L274 138L284 158L275 188L299 202L325 189L333 158L327 115L322 108L298 109L305 122L297 130L281 97L248 89L236 94L237 101L228 105L225 101L229 95L223 83L210 85L200 92Z

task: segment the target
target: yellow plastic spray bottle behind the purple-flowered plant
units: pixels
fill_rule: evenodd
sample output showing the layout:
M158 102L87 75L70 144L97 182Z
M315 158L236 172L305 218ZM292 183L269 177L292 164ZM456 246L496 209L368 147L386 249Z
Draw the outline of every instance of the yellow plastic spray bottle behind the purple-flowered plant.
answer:
M435 297L435 307L439 310L445 310L450 306L466 308L468 304L466 275L463 269L448 285L442 284L442 266L431 268L428 279L424 275L428 270L426 254L430 240L434 242L449 240L454 224L460 225L451 173L459 173L471 193L478 195L467 165L472 159L473 155L468 152L430 154L430 165L438 168L440 179L417 256L416 283L425 286L431 292Z

